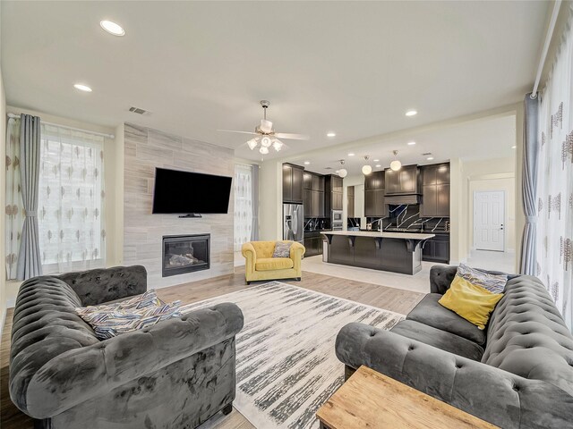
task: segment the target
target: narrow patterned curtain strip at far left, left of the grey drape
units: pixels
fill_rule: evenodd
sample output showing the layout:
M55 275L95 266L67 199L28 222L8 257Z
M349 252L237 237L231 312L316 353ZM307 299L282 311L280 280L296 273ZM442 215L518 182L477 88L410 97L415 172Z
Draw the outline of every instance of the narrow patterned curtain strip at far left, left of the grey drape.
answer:
M24 223L20 187L20 119L8 119L6 130L6 279L16 279Z

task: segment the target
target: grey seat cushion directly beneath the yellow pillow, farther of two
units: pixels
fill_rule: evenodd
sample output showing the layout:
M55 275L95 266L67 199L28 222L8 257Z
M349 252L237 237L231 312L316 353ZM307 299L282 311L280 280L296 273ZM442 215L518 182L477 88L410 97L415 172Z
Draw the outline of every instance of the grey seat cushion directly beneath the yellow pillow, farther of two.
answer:
M466 321L448 308L440 306L438 300L441 297L440 293L427 294L406 318L453 333L483 346L485 331L478 329L475 324Z

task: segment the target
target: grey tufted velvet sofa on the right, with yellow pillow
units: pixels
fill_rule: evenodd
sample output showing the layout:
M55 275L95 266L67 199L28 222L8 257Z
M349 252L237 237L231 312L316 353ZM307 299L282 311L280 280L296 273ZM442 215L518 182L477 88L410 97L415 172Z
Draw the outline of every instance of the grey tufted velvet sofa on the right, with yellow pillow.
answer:
M503 428L573 427L573 337L543 283L513 276L485 331L441 307L456 266L433 266L431 292L390 331L347 324L346 376L387 374Z

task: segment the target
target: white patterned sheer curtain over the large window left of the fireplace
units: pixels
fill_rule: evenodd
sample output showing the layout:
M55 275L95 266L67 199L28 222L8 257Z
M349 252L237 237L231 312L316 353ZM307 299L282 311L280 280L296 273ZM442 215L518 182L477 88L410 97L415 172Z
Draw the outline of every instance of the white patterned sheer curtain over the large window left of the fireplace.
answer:
M104 138L42 124L38 200L44 273L103 266Z

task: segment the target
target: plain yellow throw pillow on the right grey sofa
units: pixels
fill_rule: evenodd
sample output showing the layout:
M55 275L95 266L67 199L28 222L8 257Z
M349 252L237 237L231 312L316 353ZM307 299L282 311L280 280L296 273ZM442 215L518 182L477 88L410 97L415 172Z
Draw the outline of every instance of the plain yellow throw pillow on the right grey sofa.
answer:
M492 293L457 275L438 302L479 329L485 329L493 308L501 297L502 293Z

